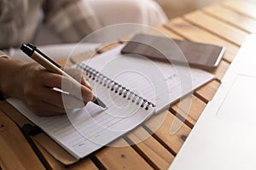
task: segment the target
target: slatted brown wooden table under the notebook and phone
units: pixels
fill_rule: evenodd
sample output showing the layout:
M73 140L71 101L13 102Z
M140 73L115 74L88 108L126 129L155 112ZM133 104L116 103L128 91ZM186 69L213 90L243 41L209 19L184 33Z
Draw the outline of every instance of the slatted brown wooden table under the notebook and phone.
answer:
M142 143L133 144L137 138L134 133L149 133L157 118L149 120L115 141L133 145L122 148L104 147L78 163L65 167L59 161L55 161L42 147L25 138L19 127L0 111L1 168L167 169L208 101L218 90L221 79L236 56L241 43L250 33L256 31L256 4L245 1L218 3L170 20L166 25L157 28L173 38L213 43L227 48L224 59L221 60L218 68L212 71L216 78L194 92L189 116L177 133L171 135L169 129L176 116L182 118L182 114L177 112L178 103L166 111L165 122Z

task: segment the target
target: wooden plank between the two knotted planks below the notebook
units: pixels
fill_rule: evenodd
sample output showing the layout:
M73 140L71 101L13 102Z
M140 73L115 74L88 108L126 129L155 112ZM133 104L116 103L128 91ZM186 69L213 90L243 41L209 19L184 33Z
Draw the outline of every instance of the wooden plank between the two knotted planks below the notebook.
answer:
M137 127L125 138L152 167L167 169L174 156L143 128Z

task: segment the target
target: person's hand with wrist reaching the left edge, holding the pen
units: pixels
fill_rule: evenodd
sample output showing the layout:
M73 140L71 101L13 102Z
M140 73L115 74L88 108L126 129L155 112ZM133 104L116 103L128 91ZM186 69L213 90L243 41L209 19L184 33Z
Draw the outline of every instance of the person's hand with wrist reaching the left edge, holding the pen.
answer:
M12 59L0 59L0 66L3 63L6 64L6 71L0 69L1 82L5 77L2 83L4 85L0 88L2 93L21 99L37 115L60 115L69 109L83 107L93 98L84 71L67 70L67 73L78 81L74 82L68 77L46 71L37 63L27 64Z

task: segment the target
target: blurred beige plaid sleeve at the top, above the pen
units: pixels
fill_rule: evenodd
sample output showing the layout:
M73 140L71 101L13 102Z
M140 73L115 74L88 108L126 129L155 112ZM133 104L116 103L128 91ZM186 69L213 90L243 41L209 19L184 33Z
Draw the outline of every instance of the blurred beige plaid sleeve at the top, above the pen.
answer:
M45 1L45 23L63 42L79 42L102 27L95 11L84 0Z

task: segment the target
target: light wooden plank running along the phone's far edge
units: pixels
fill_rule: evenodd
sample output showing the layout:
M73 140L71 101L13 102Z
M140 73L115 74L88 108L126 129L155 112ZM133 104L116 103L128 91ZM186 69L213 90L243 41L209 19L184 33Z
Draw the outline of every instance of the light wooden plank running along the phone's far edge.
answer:
M231 62L236 56L239 49L238 46L225 41L222 38L212 35L212 33L205 31L198 26L194 26L182 18L171 20L166 25L166 28L170 31L175 31L180 36L185 37L190 41L201 42L201 43L212 43L215 45L221 45L226 48L224 59Z

